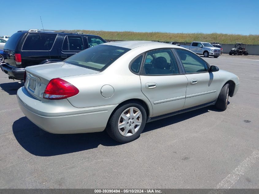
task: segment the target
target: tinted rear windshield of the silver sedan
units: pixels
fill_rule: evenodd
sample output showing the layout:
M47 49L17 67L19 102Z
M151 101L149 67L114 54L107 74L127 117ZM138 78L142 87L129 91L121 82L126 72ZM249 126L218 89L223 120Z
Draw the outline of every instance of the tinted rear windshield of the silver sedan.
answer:
M128 48L100 44L83 50L63 62L92 70L103 71L129 50Z

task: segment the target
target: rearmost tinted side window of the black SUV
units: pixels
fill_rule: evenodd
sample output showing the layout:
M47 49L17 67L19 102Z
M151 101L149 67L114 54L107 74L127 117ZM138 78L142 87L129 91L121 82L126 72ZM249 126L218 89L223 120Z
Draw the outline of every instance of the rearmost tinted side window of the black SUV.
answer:
M25 39L23 51L49 51L58 34L29 33ZM9 40L8 40L9 41Z

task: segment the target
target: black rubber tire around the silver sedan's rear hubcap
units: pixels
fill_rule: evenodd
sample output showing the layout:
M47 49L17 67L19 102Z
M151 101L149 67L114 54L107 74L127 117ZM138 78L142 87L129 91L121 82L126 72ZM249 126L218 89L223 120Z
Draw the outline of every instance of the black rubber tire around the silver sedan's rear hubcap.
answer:
M135 108L139 109L139 111L141 112L141 115L142 115L142 122L140 124L140 127L139 127L138 131L136 131L135 134L133 134L129 137L125 137L125 136L121 135L120 132L119 132L118 122L119 122L121 114L127 108L130 108L130 107L135 107ZM126 104L126 105L121 105L112 114L112 116L111 116L111 118L108 121L108 124L106 126L106 131L107 131L108 135L112 139L114 139L115 141L120 142L120 143L128 143L128 142L131 142L131 141L137 139L140 136L141 132L143 131L143 129L145 127L146 121L147 121L147 113L146 113L145 108L143 108L142 105L132 101L132 102L129 102L128 104Z

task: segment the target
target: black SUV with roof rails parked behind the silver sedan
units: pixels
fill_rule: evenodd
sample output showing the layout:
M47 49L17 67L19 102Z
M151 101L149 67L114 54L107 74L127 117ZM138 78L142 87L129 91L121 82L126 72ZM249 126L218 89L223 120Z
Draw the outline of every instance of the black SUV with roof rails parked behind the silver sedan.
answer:
M100 36L82 32L57 30L18 31L4 46L10 56L1 64L1 69L9 79L22 80L25 67L44 63L60 62L68 57L98 44L105 43Z

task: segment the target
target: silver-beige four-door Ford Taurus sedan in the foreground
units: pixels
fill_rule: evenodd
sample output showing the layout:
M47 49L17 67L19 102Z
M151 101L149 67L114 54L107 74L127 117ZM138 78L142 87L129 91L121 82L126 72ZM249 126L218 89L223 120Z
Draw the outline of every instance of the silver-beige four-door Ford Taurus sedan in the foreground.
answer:
M17 98L34 124L59 134L106 129L122 143L150 121L209 105L225 110L239 86L192 51L149 41L105 43L25 70Z

